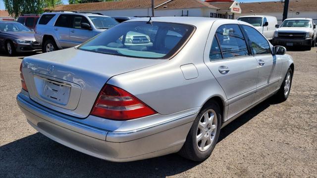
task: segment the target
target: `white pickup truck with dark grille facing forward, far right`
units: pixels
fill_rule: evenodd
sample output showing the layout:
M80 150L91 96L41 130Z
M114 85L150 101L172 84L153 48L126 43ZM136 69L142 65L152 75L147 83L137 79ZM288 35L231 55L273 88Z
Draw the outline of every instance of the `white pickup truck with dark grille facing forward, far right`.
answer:
M274 45L299 45L311 50L316 44L316 24L311 18L288 18L276 27Z

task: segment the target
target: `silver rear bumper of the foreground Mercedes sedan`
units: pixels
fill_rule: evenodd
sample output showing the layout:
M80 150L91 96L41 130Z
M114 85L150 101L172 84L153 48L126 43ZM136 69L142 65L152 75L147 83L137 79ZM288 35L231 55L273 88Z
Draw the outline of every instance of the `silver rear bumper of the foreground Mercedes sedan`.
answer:
M17 96L17 103L28 123L38 132L77 151L114 162L147 159L178 152L196 117L196 114L192 114L159 126L117 133L63 118L28 102L23 95L20 93ZM179 120L183 121L181 125L157 133L158 127L170 128ZM184 121L189 122L184 124Z

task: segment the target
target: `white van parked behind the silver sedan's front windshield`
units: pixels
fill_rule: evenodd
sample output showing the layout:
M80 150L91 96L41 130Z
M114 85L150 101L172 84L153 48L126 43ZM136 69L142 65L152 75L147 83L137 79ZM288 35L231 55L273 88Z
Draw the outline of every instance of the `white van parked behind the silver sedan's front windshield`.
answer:
M241 16L238 20L247 22L258 29L267 40L272 40L276 30L277 19L267 15L249 15Z

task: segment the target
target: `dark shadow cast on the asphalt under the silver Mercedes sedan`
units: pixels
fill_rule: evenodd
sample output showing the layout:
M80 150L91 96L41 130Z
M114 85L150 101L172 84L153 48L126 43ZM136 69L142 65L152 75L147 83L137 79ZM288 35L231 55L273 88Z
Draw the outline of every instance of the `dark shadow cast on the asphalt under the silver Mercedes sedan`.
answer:
M219 142L271 104L275 103L268 99L224 127ZM1 177L166 177L199 164L177 154L113 163L70 149L40 133L0 146Z

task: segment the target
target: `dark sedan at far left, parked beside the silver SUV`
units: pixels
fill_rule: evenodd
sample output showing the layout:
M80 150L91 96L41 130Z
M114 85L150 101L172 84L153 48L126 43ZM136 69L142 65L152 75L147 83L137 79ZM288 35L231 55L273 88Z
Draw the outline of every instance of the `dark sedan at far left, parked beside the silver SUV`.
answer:
M0 48L12 56L16 52L41 50L41 45L35 41L34 32L26 26L0 20Z

